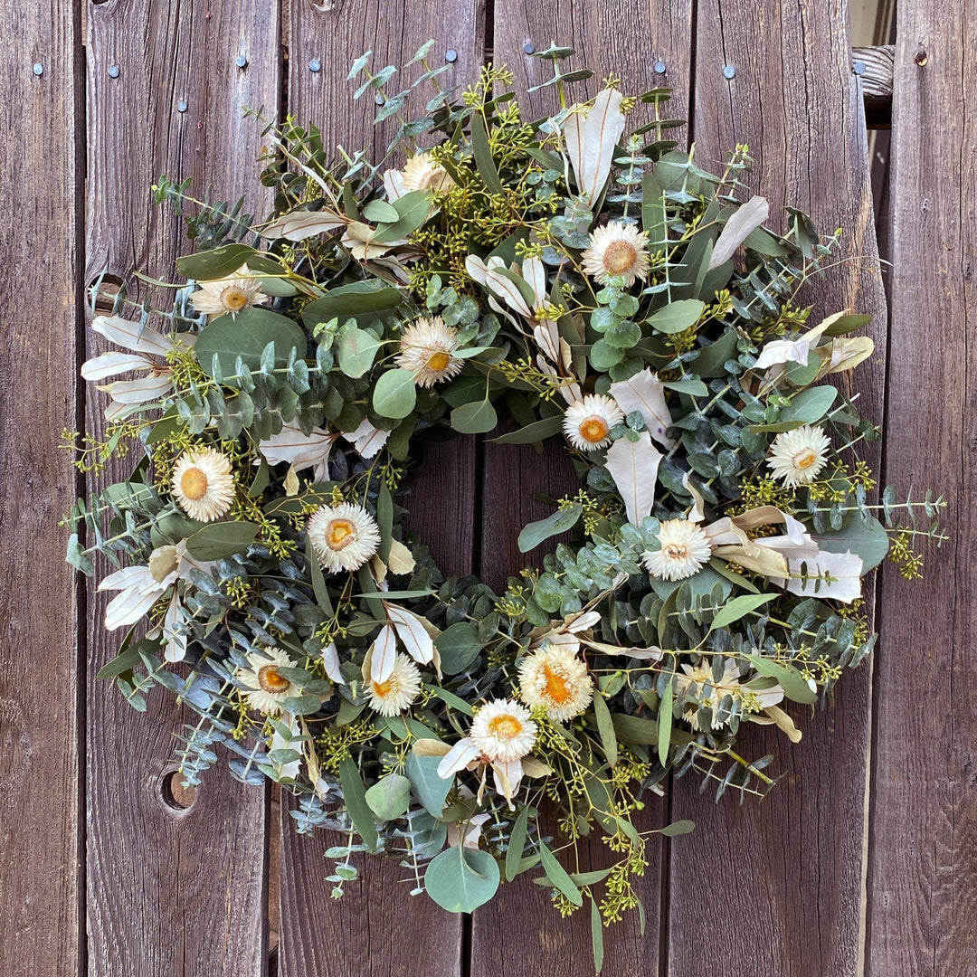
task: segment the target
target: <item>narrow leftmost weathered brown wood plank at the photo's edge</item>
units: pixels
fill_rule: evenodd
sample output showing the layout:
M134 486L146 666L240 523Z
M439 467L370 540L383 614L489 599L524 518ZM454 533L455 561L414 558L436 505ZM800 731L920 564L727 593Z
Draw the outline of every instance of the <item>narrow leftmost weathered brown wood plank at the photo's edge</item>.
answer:
M56 447L78 426L82 54L59 3L3 8L0 34L0 971L39 977L83 952L79 603L57 525L78 486Z

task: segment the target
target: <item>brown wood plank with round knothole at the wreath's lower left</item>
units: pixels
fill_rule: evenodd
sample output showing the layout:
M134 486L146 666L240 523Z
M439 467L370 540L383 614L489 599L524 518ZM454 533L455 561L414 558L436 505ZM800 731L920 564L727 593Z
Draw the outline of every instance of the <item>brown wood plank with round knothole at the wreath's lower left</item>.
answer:
M191 250L182 222L151 205L149 186L161 173L191 176L195 191L208 182L228 195L247 191L259 212L268 205L251 163L260 128L241 107L276 106L277 4L108 0L89 5L88 23L86 277L107 269L138 291L135 268L169 278L174 257ZM246 67L235 66L238 54ZM89 397L89 430L101 429L102 397ZM259 975L266 791L235 783L219 766L191 807L168 803L172 735L194 719L158 692L138 715L95 680L119 632L102 627L104 600L90 607L89 972Z

